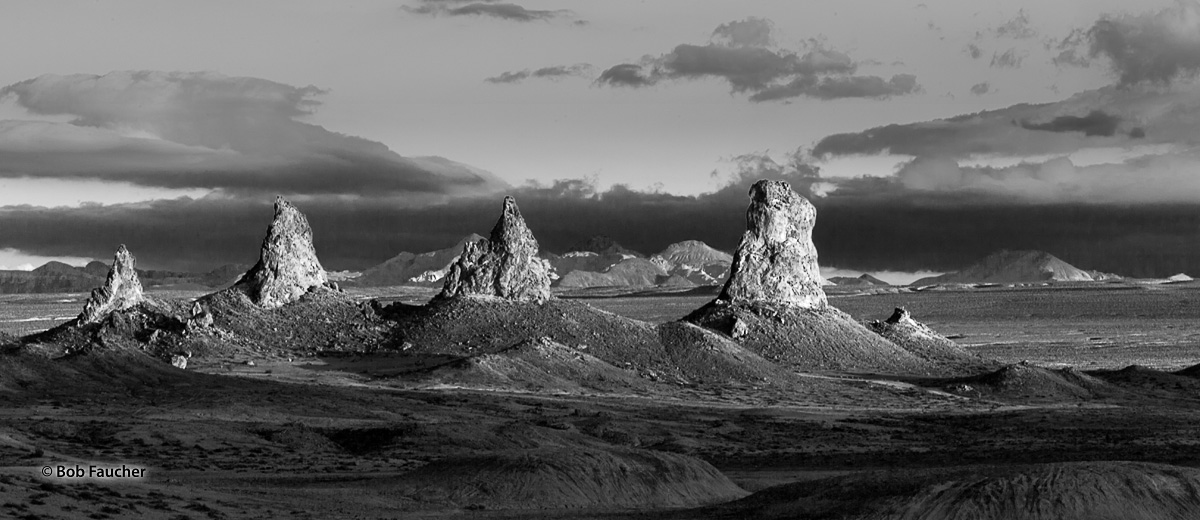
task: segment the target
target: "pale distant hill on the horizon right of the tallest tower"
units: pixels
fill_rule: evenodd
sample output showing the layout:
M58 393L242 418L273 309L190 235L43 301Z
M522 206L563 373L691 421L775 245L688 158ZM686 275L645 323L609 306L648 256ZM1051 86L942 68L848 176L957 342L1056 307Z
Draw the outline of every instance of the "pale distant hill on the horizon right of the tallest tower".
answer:
M1045 251L997 251L956 273L930 276L913 286L937 283L1024 283L1044 281L1092 281L1091 274Z

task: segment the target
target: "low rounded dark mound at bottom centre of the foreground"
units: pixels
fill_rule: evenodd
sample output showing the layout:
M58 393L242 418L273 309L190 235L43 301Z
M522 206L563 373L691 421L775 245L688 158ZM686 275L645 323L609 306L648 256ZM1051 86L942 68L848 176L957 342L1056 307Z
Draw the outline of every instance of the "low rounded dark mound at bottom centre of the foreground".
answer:
M635 448L539 448L440 460L400 478L424 502L486 509L666 508L745 496L708 462Z

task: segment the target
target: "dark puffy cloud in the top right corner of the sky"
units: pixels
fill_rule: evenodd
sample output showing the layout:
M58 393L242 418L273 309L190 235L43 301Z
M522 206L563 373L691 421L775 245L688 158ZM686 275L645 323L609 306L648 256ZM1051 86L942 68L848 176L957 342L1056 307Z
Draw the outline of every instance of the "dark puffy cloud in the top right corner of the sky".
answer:
M1087 31L1120 84L1170 83L1200 72L1200 4L1178 0L1157 13L1104 17Z

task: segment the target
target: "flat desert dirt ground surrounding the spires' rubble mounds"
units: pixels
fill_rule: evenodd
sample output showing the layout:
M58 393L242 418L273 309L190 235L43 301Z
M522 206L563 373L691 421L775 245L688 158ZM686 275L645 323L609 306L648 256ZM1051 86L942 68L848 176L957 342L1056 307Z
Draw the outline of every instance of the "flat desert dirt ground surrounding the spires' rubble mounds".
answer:
M710 298L578 301L661 323ZM830 303L857 319L905 306L1018 365L960 379L803 373L809 392L785 395L420 385L397 377L414 359L390 354L187 371L78 358L36 383L22 373L41 365L13 364L0 371L0 518L1195 518L1200 379L1180 370L1200 363L1200 285ZM40 474L122 464L148 476ZM1033 491L1048 502L996 502Z

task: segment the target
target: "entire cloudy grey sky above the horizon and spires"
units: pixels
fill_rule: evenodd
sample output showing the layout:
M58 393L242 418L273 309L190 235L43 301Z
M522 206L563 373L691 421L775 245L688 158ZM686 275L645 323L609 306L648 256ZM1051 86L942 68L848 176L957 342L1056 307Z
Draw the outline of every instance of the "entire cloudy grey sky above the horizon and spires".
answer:
M997 249L1200 273L1194 1L8 1L0 267L252 263L275 195L326 268L486 232L732 249L746 189L822 265Z

